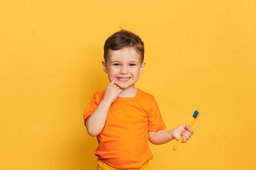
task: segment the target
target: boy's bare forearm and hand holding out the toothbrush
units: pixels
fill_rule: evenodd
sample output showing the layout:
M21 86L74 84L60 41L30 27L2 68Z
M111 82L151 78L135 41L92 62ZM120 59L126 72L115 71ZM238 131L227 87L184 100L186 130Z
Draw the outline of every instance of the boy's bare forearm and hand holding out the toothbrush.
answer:
M172 130L158 130L156 132L148 131L149 141L152 144L165 144L172 139L179 140L180 137L183 137L182 143L187 142L190 136L194 133L192 129L189 128L189 125L181 125ZM188 130L186 130L188 129Z

